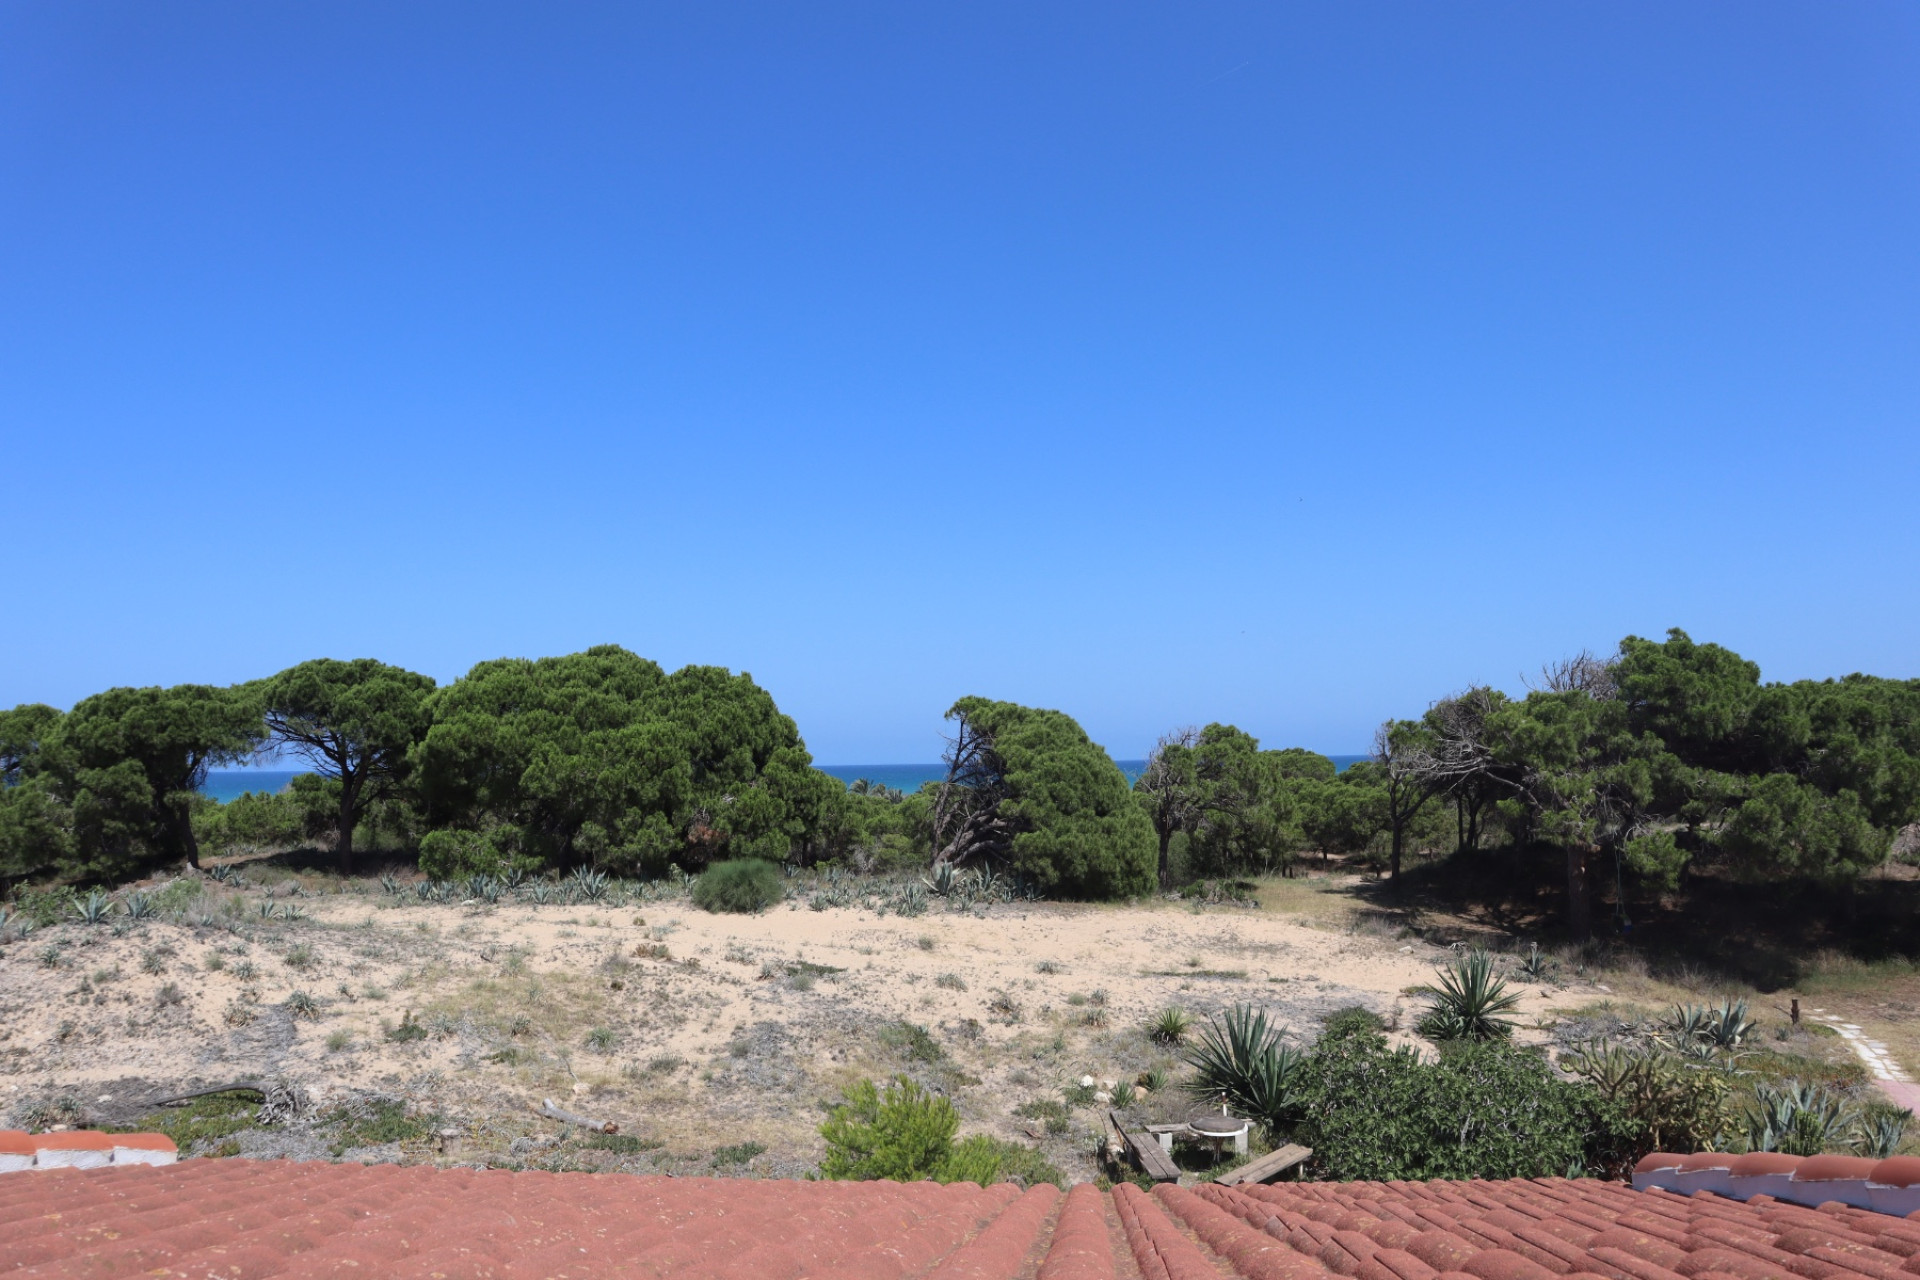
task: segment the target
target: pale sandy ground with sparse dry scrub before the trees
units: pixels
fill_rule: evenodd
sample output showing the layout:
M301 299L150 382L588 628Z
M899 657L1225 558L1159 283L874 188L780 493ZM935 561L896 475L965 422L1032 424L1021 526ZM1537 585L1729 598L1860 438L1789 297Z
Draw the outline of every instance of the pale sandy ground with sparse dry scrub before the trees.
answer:
M639 1138L624 1167L701 1169L751 1142L764 1151L739 1171L795 1174L818 1161L818 1125L849 1082L904 1073L954 1098L962 1132L1041 1146L1091 1176L1096 1107L1056 1132L1016 1109L1081 1077L1177 1077L1177 1055L1146 1036L1154 1011L1198 1021L1254 1004L1306 1040L1365 1006L1405 1036L1421 1009L1407 988L1446 958L1380 927L1246 906L954 912L935 898L900 917L793 900L708 915L685 898L422 906L346 889L209 885L198 923L61 923L12 942L0 1111L19 1123L58 1096L119 1119L156 1096L276 1079L317 1113L405 1098L461 1130L465 1159L530 1161L561 1132L534 1113L555 1100ZM275 902L301 917L265 917ZM1542 1038L1546 1009L1586 988L1519 990L1524 1036ZM1142 1103L1188 1107L1173 1088Z

